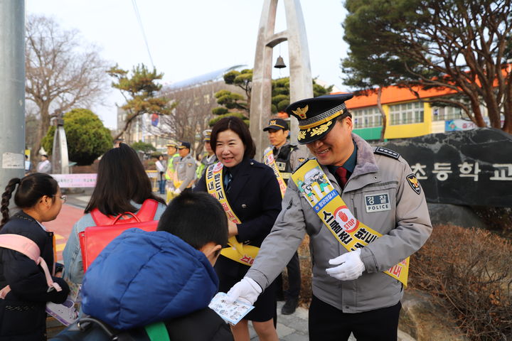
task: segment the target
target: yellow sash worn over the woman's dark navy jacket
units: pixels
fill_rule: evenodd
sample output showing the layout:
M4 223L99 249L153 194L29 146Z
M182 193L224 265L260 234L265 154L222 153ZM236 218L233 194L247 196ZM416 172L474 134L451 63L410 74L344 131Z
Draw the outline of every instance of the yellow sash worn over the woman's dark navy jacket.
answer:
M228 219L235 224L241 224L242 221L238 219L235 215L235 212L231 210L228 199L226 198L224 192L223 185L223 174L222 174L223 164L213 163L213 165L208 166L206 168L206 189L210 195L213 195L215 199L220 202L220 205L224 208ZM228 247L225 247L220 251L225 257L229 259L233 259L233 261L238 261L238 263L251 266L254 262L258 251L260 251L259 247L253 247L252 245L244 245L236 239L235 236L230 237L228 239Z

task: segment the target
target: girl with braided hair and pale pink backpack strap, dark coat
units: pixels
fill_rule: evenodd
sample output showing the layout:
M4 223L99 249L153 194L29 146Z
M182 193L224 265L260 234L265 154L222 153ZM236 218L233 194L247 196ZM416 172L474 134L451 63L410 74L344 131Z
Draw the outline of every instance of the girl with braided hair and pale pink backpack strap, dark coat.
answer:
M16 185L14 203L21 211L9 217ZM41 224L57 217L65 198L57 181L44 173L11 179L1 196L0 340L46 340L46 303L68 297L63 278L50 276L53 232Z

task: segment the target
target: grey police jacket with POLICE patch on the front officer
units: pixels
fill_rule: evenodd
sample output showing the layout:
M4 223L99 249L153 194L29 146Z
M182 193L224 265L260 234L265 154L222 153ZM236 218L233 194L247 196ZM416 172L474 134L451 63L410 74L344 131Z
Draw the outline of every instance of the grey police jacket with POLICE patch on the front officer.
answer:
M420 249L432 232L425 195L415 190L407 175L412 171L407 162L395 154L374 154L374 149L357 135L352 135L358 148L356 168L343 193L336 178L322 166L324 173L338 190L353 215L382 237L361 249L366 270L353 281L339 281L326 274L329 259L347 250L316 215L313 208L290 181L282 202L282 211L247 276L267 287L286 266L304 235L310 236L313 266L313 294L321 301L343 310L360 313L395 305L402 298L402 283L383 271L398 264ZM372 210L368 198L384 195L390 205L385 210ZM382 208L382 207L381 207ZM421 266L421 264L420 264Z

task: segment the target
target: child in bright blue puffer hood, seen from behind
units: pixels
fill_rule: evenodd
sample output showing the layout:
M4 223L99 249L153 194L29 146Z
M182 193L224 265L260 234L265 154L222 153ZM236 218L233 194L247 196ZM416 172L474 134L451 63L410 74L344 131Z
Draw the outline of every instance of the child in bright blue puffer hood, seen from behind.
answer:
M233 341L208 308L218 290L213 264L227 242L214 197L178 195L156 232L129 229L103 249L84 276L86 315L53 340Z

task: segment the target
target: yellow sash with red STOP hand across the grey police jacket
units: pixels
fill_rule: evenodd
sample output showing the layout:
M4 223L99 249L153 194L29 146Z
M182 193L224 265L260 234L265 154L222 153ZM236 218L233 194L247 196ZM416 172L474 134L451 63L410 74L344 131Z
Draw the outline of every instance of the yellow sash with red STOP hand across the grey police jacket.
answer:
M304 163L292 174L292 179L309 205L348 251L365 247L378 237L382 237L382 234L353 216L316 160ZM409 257L384 273L407 286Z

